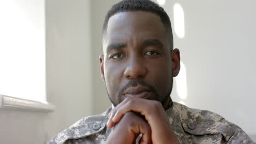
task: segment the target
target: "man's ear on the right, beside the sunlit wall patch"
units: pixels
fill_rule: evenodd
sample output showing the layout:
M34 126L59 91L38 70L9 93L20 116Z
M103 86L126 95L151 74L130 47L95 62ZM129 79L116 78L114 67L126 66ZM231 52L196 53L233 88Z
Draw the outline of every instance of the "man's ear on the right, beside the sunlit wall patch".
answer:
M172 58L172 76L176 77L179 74L179 70L181 69L181 57L179 56L179 50L174 49L171 51Z

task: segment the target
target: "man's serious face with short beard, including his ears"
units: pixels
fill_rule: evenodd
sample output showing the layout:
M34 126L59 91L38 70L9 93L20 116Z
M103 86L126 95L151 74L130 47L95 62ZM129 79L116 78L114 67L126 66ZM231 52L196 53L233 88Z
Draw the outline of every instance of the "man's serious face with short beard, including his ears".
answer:
M110 17L100 61L114 106L126 97L164 104L179 71L179 51L171 51L171 43L158 15L126 11Z

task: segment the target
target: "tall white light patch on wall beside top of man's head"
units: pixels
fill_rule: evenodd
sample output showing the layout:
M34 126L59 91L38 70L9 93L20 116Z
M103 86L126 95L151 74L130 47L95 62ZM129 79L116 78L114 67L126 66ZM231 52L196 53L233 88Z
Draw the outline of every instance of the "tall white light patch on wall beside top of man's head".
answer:
M185 26L184 26L184 11L180 4L176 3L173 6L173 18L174 18L174 31L179 38L184 38Z

